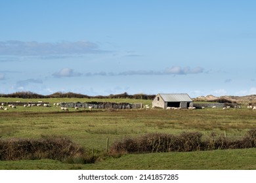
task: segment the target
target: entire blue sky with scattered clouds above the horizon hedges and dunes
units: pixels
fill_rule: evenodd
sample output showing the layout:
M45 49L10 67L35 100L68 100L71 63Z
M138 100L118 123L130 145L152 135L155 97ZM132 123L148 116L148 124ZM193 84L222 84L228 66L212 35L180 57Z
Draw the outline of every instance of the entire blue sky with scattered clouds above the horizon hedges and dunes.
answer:
M0 2L0 93L256 94L256 1Z

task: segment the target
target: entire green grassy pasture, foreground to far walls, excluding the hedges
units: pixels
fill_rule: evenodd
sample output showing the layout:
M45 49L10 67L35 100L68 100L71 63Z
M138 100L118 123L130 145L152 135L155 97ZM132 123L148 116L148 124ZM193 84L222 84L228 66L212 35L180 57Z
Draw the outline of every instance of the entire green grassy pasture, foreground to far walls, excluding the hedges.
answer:
M0 98L1 102L38 101L37 99ZM92 164L63 163L52 159L0 161L0 169L255 169L256 149L213 150L207 152L170 152L106 156L109 146L124 137L146 133L180 134L198 131L203 139L214 132L230 139L244 137L249 129L256 129L256 111L247 107L205 108L196 110L129 109L102 110L70 108L63 111L53 106L58 102L110 101L143 103L151 100L135 99L43 99L51 107L22 107L0 110L2 139L68 137L98 156ZM203 160L202 160L203 159ZM235 159L235 161L234 161Z

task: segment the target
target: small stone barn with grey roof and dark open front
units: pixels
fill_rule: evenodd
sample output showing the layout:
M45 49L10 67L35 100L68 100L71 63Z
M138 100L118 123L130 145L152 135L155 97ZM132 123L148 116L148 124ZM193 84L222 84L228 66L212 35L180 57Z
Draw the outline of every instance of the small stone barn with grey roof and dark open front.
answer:
M152 101L152 107L193 107L193 101L186 93L158 93Z

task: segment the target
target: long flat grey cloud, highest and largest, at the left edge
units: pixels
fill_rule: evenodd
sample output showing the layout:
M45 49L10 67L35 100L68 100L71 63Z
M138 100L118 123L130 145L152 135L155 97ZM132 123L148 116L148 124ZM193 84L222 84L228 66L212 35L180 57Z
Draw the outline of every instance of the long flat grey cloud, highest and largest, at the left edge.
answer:
M61 56L74 54L96 54L100 52L103 51L98 49L98 45L89 41L0 41L0 55L2 56Z

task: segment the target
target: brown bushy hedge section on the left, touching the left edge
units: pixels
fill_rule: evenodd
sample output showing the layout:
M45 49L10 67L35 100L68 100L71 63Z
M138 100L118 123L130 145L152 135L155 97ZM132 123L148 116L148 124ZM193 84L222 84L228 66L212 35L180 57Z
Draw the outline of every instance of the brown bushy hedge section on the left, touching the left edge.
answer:
M0 160L56 159L84 156L85 150L65 137L0 140Z

